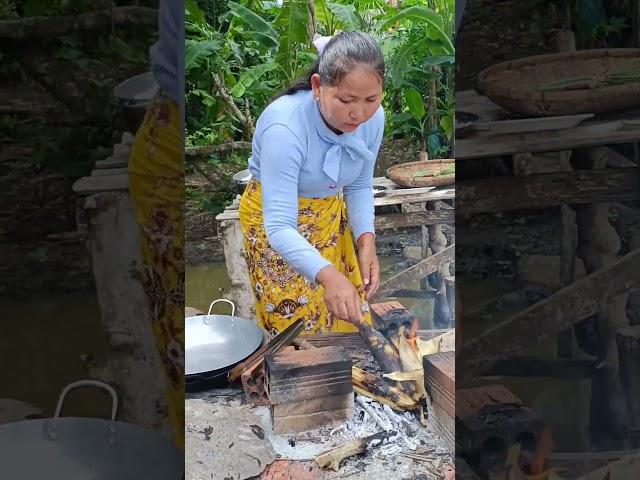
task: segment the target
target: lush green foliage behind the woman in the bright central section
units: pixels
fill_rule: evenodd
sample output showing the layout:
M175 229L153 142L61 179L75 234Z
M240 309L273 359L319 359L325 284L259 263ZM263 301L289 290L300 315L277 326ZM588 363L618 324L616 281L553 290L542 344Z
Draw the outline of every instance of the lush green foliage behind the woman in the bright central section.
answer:
M314 33L361 30L376 38L387 64L387 138L411 139L430 158L449 156L455 2L394 2L187 0L186 142L196 147L187 172L214 184L207 194L188 184L188 195L211 211L232 198L228 176L246 168L249 151L229 148L247 146L237 142L251 141L269 99L315 60Z

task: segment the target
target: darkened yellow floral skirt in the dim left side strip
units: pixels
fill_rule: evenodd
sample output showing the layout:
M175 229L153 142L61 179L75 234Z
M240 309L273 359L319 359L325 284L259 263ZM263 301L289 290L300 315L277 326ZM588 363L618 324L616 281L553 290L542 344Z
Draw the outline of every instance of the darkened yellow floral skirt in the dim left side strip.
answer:
M180 109L150 104L129 159L129 191L140 225L144 289L167 378L174 442L184 448L184 148Z

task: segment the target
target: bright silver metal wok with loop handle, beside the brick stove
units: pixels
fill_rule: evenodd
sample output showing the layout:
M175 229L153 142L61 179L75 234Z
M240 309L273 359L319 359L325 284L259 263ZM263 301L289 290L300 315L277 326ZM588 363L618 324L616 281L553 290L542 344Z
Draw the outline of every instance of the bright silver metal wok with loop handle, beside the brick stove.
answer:
M218 302L231 305L231 315L211 315ZM231 300L211 302L207 315L187 317L185 326L185 383L187 391L226 383L227 373L248 358L264 341L263 330L254 321L235 316Z

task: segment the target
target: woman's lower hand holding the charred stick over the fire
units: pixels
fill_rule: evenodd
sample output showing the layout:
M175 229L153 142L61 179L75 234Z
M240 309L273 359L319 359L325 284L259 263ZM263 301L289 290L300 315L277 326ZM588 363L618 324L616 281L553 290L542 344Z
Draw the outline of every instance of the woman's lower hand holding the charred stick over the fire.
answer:
M333 265L321 269L316 280L324 288L324 301L329 311L340 320L364 321L362 301L356 287Z

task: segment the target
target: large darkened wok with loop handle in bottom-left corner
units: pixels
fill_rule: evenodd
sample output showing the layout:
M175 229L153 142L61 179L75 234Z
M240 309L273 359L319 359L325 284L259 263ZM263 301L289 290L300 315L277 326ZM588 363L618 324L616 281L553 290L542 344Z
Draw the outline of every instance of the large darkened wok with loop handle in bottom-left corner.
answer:
M109 392L111 416L61 417L67 394L94 386ZM67 385L53 418L0 426L0 478L20 480L181 480L184 454L153 430L116 421L118 397L109 385L80 380Z

